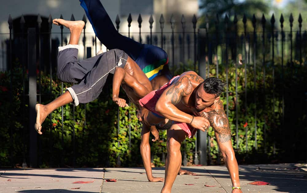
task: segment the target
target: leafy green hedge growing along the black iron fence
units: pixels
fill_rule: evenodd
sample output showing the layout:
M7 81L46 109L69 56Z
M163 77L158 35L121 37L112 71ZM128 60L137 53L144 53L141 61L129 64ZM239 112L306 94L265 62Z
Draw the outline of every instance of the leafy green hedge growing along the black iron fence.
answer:
M261 60L259 60L261 61ZM278 59L276 59L278 61ZM231 62L230 62L231 63ZM180 74L183 64L174 74ZM26 161L29 157L29 117L28 100L23 97L23 81L27 90L27 73L23 74L18 62L13 70L12 88L10 73L0 74L0 165L21 165L25 152ZM235 66L229 65L229 121L232 132L233 147L236 147L236 116L235 100L239 103L238 136L239 148L236 149L239 163L267 163L278 161L301 161L305 154L306 116L305 116L305 67L294 64L287 67L281 77L282 68L278 63L275 67L275 86L273 100L272 68L266 64L266 102L263 94L262 63L257 63L256 97L254 103L254 71L253 66L247 66L247 109L245 108L244 66L238 68L238 96L235 96ZM210 65L210 75L216 76L216 66ZM185 70L194 69L192 62L185 64ZM197 71L197 70L196 70ZM62 93L61 82L52 77L52 94L50 93L50 77L41 73L41 103L47 104ZM39 76L39 73L37 74ZM225 81L225 66L219 66L219 78ZM39 83L39 81L37 81ZM64 89L71 84L64 83ZM284 101L286 105L285 121L282 121L282 88L286 89ZM39 89L39 87L37 87ZM80 104L74 108L72 104L63 107L64 125L62 132L61 108L56 109L43 123L43 135L38 136L38 163L40 167L103 167L117 166L118 156L121 166L141 166L139 151L141 124L136 118L136 108L131 105L119 108L119 123L117 121L117 105L111 100L111 77L108 78L103 93L98 99L86 105ZM125 93L121 92L121 96ZM25 98L25 104L23 104ZM221 96L226 108L226 93ZM39 97L37 97L39 100ZM273 102L275 108L273 109ZM25 108L23 108L23 105ZM257 144L255 144L255 108L257 115ZM25 109L25 113L23 112ZM73 117L73 113L75 116ZM129 114L130 112L130 118ZM247 113L247 116L245 116ZM290 121L289 121L290 120ZM266 131L263 126L266 123ZM283 123L283 124L282 124ZM131 143L129 146L129 124L131 127ZM119 126L119 135L117 134ZM73 133L73 129L75 134ZM247 129L247 133L245 132ZM210 136L210 156L212 164L216 163L218 148L212 128L208 129ZM246 141L247 136L247 141ZM63 143L62 143L63 138ZM73 140L75 138L75 141ZM246 149L247 142L247 149ZM13 146L11 146L13 144ZM74 146L75 144L75 146ZM119 145L118 145L119 144ZM188 165L193 164L195 138L186 139L182 152L186 151ZM257 146L257 150L255 148ZM160 132L160 140L151 143L153 162L163 166L162 154L166 153L166 131ZM306 152L306 151L305 151ZM74 159L75 158L75 159Z

